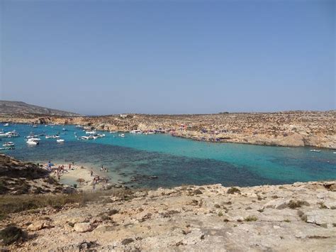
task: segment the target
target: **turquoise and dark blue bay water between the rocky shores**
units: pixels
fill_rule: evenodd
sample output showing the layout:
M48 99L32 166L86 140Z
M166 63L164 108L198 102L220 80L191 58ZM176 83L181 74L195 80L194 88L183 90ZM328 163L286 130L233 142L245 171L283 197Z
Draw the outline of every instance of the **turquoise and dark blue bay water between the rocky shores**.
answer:
M168 134L140 135L108 133L105 138L79 141L85 133L74 126L10 125L18 138L15 150L1 150L22 160L55 163L74 161L99 170L107 167L113 181L122 179L135 187L172 187L183 184L221 183L225 186L274 185L296 181L336 179L336 154L332 150L310 152L310 148L252 146L235 143L206 143L174 138ZM39 146L26 145L30 132L60 133L64 144L40 136ZM157 179L150 179L156 175ZM130 178L138 179L131 182Z

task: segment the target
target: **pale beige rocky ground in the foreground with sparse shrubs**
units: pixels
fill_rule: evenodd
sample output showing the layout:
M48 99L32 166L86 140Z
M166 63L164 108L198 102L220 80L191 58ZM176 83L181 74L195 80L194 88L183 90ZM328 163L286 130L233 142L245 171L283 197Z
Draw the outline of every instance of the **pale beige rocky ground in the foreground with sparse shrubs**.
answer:
M335 251L336 181L125 191L11 214L12 251Z

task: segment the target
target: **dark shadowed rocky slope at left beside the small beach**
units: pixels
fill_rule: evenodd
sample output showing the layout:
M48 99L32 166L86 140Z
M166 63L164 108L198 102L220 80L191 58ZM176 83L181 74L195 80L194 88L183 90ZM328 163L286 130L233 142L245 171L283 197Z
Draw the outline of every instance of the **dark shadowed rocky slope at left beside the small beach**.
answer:
M47 170L0 154L0 195L62 192L63 187L48 177Z

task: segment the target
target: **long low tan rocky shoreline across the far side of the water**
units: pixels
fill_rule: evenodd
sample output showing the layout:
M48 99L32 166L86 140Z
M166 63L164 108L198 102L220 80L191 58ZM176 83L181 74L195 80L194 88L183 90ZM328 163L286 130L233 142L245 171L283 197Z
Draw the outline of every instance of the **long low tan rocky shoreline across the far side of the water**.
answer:
M0 121L80 124L102 131L159 131L197 141L336 149L335 116L335 111L74 117L0 113Z

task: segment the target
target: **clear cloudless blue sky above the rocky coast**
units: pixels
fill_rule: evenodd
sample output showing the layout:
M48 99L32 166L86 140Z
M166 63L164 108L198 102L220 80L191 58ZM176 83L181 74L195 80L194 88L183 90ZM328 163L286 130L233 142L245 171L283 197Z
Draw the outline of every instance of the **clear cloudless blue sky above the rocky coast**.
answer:
M335 1L0 1L0 99L80 114L335 109Z

